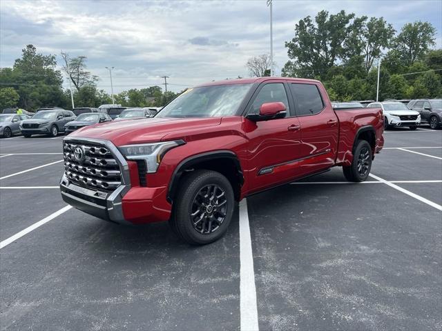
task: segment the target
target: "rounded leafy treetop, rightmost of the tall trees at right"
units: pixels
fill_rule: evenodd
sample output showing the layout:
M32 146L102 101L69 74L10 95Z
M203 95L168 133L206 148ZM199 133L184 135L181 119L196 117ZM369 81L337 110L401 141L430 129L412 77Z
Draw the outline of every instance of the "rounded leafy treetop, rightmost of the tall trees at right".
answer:
M429 22L406 23L394 39L394 47L401 53L405 65L410 66L434 46L436 29Z

